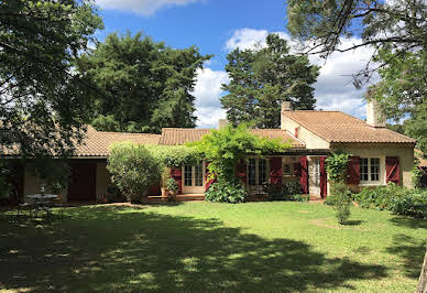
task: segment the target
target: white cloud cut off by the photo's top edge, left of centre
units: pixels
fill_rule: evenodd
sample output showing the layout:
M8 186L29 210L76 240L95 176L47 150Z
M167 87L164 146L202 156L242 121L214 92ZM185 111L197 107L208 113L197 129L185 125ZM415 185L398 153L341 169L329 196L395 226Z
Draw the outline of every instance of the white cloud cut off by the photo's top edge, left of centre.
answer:
M144 17L153 15L158 9L172 6L185 6L200 0L96 0L103 9L132 11Z

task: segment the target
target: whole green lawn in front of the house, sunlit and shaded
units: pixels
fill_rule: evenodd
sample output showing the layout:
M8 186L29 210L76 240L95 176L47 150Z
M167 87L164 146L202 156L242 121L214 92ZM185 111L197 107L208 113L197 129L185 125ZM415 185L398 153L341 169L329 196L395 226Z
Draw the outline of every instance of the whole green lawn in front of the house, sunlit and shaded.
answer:
M414 292L427 223L320 204L202 202L0 214L0 291Z

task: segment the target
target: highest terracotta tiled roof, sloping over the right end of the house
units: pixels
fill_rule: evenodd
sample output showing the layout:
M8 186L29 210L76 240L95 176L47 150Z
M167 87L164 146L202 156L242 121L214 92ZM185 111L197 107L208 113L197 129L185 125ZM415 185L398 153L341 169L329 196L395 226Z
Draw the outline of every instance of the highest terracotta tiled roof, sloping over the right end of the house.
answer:
M415 140L340 111L296 110L283 113L328 142L415 143Z

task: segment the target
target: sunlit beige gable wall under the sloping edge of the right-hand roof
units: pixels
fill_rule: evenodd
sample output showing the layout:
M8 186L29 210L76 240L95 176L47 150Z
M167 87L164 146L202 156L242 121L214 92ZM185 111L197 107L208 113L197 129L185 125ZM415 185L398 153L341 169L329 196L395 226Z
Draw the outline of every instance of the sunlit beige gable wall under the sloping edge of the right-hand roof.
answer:
M306 149L329 149L329 142L286 117L285 113L282 113L281 120L281 128L293 135L295 134L295 128L299 128L298 139L306 144Z

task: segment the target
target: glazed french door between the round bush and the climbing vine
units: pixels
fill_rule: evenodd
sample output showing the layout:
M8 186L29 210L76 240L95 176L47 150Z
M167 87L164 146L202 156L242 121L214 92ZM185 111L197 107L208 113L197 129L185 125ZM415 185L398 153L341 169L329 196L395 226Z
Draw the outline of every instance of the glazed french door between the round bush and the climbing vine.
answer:
M204 162L200 162L196 165L183 166L183 193L205 193L205 173L206 170Z

